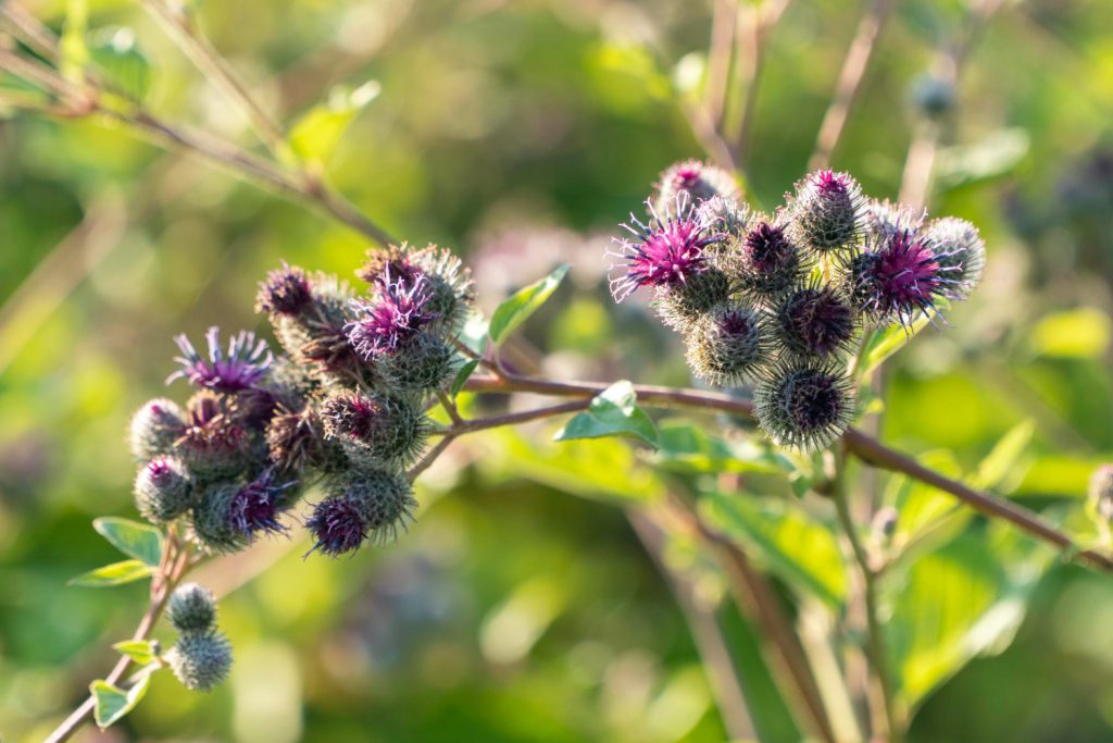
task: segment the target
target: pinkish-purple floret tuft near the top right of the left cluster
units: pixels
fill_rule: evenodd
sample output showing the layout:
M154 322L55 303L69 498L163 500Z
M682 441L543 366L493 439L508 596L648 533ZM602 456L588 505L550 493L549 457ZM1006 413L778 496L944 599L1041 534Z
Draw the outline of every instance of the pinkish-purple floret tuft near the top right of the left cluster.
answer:
M401 280L387 283L372 302L353 301L358 320L344 326L348 343L368 361L393 355L435 320L427 309L430 296L426 282L420 276L412 284Z

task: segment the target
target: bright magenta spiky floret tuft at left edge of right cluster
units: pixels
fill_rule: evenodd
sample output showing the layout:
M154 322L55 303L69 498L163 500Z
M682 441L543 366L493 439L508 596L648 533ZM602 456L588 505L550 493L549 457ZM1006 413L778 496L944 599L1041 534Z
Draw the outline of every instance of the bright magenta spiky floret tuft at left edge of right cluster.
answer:
M637 242L614 238L619 248L608 252L622 261L611 265L612 271L623 271L611 276L611 294L615 302L621 302L639 286L676 287L687 283L689 276L707 267L703 248L722 238L712 231L707 216L692 208L687 193L681 192L677 197L674 215L666 213L662 218L652 205L650 214L649 224L631 214L630 224L622 227Z

